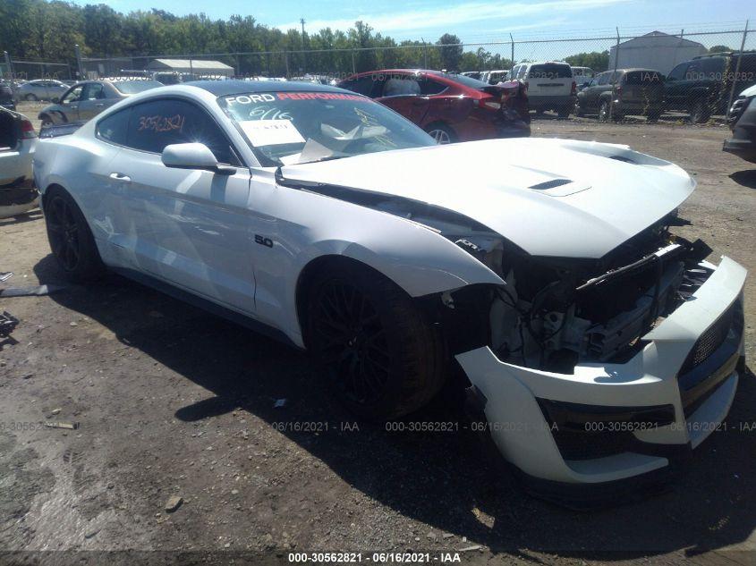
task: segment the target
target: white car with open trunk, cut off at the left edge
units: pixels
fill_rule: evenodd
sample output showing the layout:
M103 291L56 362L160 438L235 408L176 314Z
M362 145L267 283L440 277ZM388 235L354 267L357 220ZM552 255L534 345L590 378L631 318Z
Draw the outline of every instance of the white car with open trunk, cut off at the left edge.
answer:
M0 107L0 218L37 207L31 158L37 133L29 118Z

